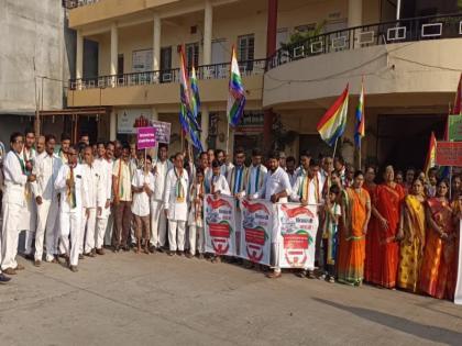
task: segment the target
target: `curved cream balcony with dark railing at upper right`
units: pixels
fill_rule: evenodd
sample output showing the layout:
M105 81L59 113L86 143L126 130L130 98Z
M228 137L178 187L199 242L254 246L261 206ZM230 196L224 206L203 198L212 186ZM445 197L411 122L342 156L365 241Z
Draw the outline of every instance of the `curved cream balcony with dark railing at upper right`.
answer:
M271 57L263 107L326 109L346 83L359 94L364 78L367 107L448 109L462 70L462 40L455 38L462 38L462 14L310 37Z

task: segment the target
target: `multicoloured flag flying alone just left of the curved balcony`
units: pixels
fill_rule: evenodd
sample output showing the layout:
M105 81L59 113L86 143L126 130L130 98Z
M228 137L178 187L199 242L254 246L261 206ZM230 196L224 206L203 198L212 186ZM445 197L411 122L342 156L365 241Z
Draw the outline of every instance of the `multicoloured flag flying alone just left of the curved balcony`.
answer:
M238 58L235 56L235 48L232 47L231 55L231 70L230 85L227 105L228 122L232 127L235 127L241 120L245 107L245 90L242 85L241 71L239 70Z

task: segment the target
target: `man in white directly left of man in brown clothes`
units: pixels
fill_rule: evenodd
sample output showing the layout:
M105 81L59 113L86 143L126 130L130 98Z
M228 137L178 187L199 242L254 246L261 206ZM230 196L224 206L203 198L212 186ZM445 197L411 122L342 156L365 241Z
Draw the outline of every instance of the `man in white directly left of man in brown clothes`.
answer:
M108 227L109 219L111 217L111 196L112 196L112 166L113 166L113 153L114 145L109 142L106 147L103 143L98 144L98 156L99 158L95 161L98 166L98 170L101 172L102 189L98 191L99 201L105 201L105 205L101 209L101 213L97 215L97 234L96 234L96 253L98 255L105 255L105 235L108 233L108 243L111 243L112 236L112 222ZM112 215L113 216L113 215ZM109 228L109 230L108 230Z

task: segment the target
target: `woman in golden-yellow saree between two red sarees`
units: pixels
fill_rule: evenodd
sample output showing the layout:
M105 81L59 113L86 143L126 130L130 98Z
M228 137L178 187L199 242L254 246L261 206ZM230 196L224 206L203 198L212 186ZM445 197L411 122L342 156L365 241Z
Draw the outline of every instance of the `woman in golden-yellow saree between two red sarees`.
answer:
M397 286L402 289L417 292L420 265L425 247L425 198L424 181L416 179L402 207L398 238L399 266Z

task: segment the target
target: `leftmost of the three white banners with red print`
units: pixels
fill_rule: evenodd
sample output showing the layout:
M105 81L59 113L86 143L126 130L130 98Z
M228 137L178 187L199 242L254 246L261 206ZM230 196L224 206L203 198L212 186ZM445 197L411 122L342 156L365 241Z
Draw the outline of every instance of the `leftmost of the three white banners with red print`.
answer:
M235 200L232 197L211 194L205 198L204 225L206 252L216 255L235 256Z

